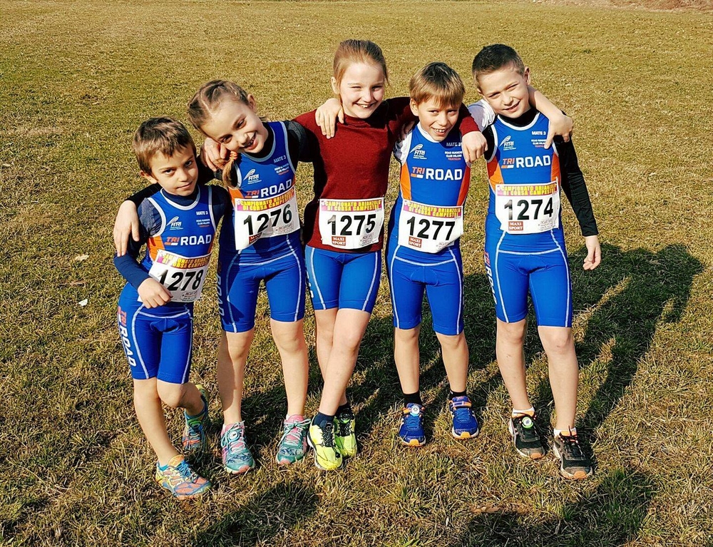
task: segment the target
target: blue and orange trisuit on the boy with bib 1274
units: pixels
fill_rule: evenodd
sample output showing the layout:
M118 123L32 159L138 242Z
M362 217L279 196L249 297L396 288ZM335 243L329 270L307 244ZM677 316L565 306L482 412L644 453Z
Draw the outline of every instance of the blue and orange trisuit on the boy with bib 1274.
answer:
M498 116L487 131L490 203L485 265L503 322L518 322L528 310L528 292L538 325L572 326L572 285L560 218L562 175L555 145L544 148L549 121L539 112L525 126Z

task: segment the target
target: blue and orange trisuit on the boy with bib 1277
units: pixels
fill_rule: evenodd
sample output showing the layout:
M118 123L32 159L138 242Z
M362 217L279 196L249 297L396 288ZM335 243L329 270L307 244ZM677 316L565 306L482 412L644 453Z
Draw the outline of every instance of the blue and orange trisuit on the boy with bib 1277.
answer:
M434 330L463 331L463 205L471 168L463 158L461 133L434 141L417 125L397 143L401 163L399 197L391 210L386 268L394 327L421 323L424 291Z

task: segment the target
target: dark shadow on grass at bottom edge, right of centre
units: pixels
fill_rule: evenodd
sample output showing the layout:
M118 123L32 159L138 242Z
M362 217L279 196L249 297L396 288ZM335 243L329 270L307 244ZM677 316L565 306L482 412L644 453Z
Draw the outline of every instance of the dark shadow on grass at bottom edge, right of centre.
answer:
M617 469L557 517L530 525L524 508L481 513L449 546L622 546L637 538L655 493L647 474Z

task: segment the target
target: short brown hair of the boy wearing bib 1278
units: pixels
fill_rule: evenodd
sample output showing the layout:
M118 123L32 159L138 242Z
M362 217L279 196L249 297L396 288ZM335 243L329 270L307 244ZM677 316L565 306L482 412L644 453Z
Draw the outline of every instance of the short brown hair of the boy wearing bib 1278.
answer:
M151 160L156 154L170 158L177 150L190 148L195 155L195 143L188 128L173 118L149 118L134 133L132 148L138 167L151 174Z

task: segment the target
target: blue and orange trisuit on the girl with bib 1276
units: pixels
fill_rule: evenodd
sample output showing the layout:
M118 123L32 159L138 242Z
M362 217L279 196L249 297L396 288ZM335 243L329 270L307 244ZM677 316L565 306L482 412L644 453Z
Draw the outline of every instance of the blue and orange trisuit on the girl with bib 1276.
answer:
M232 211L220 230L218 306L226 332L255 327L260 282L265 281L270 317L304 317L305 271L294 188L297 158L287 147L282 122L265 123L272 147L260 156L240 154L228 188ZM268 143L270 139L268 139Z

